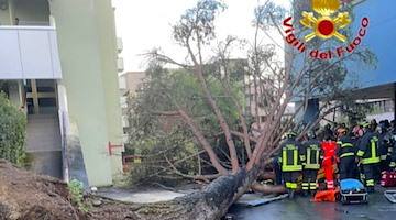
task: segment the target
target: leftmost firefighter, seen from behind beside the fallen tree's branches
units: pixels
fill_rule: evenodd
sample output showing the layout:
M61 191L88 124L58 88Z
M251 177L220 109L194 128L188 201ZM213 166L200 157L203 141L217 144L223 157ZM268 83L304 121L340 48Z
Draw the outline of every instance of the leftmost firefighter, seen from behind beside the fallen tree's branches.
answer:
M296 133L294 131L286 132L286 140L280 144L278 154L283 180L289 194L289 198L294 198L297 188L297 177L302 170L300 161L301 144L296 141Z

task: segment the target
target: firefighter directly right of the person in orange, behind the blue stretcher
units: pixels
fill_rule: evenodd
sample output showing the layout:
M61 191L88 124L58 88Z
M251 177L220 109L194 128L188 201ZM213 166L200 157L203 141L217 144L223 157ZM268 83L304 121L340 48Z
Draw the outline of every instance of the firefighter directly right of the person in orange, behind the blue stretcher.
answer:
M352 140L346 135L346 129L338 129L337 158L340 163L340 180L354 178L355 153Z

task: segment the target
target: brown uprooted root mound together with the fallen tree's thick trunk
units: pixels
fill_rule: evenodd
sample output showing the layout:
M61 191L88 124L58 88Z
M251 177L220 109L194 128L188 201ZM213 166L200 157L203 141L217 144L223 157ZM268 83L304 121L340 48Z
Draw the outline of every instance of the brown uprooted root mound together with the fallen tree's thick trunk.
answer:
M170 201L130 204L88 195L84 213L72 200L67 184L32 174L0 160L2 219L220 219L246 189L253 172L221 176L204 190ZM94 206L100 200L99 206Z

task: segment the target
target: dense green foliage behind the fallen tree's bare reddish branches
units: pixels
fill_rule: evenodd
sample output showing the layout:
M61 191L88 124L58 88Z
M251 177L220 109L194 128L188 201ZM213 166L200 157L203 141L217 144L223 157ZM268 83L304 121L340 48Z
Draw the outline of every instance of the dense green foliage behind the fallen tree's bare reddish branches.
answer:
M199 170L198 157L189 157L202 151L202 146L184 121L179 117L164 117L155 113L156 111L178 110L175 106L177 103L190 116L219 157L227 162L228 158L223 152L228 152L228 146L218 118L195 75L188 69L170 72L156 65L147 69L146 74L150 80L141 88L142 91L130 100L130 124L132 127L129 131L130 143L127 151L129 154L144 155L142 164L132 167L132 184L147 182L167 186L179 184L183 180L179 175L175 175L173 169L164 170L164 167L169 168L167 160L175 164L175 167L183 174L213 173L215 170L209 164L202 164L201 170ZM235 131L240 130L237 108L231 98L226 95L220 80L209 74L206 79L208 88L230 128ZM238 81L231 84L231 92L238 100L242 100L241 91L243 89L241 88L242 85ZM185 160L186 157L189 158ZM200 160L209 161L209 157L204 153L200 155Z

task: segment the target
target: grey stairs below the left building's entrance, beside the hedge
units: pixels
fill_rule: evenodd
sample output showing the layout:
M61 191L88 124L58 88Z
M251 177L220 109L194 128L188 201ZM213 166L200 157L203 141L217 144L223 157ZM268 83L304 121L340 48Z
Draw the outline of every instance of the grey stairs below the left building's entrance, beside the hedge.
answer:
M25 153L35 173L62 178L62 141L57 114L29 114Z

